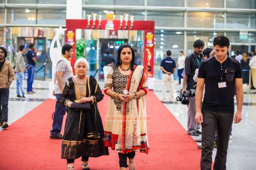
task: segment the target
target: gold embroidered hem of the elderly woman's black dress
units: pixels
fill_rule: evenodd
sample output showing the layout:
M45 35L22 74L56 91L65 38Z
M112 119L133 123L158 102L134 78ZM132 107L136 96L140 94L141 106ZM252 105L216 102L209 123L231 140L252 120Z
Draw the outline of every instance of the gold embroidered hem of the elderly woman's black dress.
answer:
M81 156L99 157L109 155L108 147L104 147L103 138L83 141L62 140L61 158L75 160Z

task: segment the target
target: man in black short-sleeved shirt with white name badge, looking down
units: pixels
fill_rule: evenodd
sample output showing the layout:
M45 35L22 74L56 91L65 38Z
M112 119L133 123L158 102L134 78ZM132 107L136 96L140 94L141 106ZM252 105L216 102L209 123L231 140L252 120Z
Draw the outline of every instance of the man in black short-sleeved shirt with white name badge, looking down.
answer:
M234 118L234 86L237 100L234 123L239 123L242 120L242 68L239 61L227 55L229 45L227 37L215 37L213 46L216 55L204 60L199 67L195 120L202 125L203 132L201 169L211 169L212 167L216 127L218 147L213 169L226 169L228 141ZM201 107L204 84L205 96Z

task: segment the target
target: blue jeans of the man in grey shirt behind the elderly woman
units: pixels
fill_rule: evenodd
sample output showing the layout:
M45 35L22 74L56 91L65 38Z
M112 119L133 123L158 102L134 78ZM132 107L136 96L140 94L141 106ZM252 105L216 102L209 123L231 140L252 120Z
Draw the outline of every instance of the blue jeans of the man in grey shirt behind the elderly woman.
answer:
M55 112L53 115L53 122L52 122L52 129L51 133L56 136L59 135L61 132L63 117L67 111L67 106L64 104L59 104L59 101L61 101L61 94L55 94L57 101L55 104Z

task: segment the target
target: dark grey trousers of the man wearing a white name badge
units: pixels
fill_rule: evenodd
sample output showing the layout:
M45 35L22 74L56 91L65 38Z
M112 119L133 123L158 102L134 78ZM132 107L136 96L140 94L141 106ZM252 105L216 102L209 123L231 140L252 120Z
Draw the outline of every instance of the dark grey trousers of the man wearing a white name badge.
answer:
M211 170L214 135L217 127L217 153L214 160L214 170L225 170L227 161L228 141L231 132L234 113L203 111L202 123L202 155L201 170Z

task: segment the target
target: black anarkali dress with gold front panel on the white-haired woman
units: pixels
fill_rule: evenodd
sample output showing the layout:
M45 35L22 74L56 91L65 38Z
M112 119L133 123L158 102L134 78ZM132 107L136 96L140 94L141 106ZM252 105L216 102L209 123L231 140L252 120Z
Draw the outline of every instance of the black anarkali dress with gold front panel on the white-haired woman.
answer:
M89 76L87 83L78 84L74 78L67 80L61 100L66 105L82 97L92 97L90 110L75 110L68 107L67 119L61 146L61 158L75 160L81 156L99 157L109 155L104 146L104 130L97 103L104 97L97 80Z

